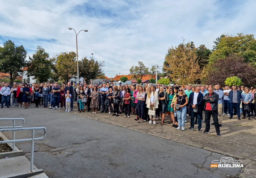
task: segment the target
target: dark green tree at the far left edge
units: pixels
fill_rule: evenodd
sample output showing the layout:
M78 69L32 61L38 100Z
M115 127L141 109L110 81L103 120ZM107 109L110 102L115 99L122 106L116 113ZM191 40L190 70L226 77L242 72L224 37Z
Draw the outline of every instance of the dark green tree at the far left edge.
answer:
M27 51L22 45L15 46L14 42L8 40L4 42L4 46L0 47L0 71L9 73L10 83L22 74L22 68L27 66Z

